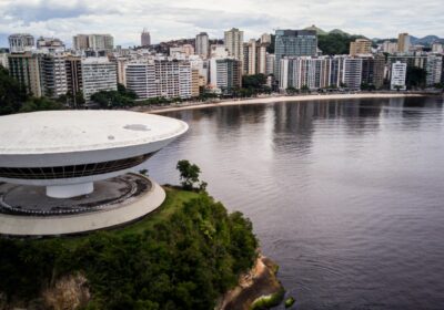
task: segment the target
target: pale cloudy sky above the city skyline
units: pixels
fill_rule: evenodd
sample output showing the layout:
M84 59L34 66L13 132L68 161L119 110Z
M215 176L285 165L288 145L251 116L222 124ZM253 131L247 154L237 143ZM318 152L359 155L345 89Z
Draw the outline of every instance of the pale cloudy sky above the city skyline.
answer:
M147 28L152 43L193 38L205 31L223 38L233 27L244 40L275 29L312 24L367 38L444 37L443 0L0 0L0 46L8 35L56 37L71 45L77 33L110 33L114 44L140 44Z

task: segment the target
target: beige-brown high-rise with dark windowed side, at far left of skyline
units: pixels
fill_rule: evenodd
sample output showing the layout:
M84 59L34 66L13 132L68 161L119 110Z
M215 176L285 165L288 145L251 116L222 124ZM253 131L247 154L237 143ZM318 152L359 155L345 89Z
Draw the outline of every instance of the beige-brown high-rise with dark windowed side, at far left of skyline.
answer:
M40 76L40 56L31 52L11 53L8 55L9 74L14 78L28 92L42 96Z

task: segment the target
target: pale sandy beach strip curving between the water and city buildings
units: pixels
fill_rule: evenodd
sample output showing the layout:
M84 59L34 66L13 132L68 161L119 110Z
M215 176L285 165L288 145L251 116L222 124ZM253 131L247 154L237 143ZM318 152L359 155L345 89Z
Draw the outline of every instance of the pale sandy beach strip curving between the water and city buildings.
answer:
M293 95L293 96L266 96L266 97L255 97L255 99L241 99L241 100L228 100L219 102L193 102L185 104L174 104L170 106L138 106L133 108L135 112L142 113L165 113L175 112L183 110L195 110L195 108L209 108L215 106L233 106L233 105L249 105L249 104L269 104L278 102L305 102L305 101L327 101L327 100L354 100L354 99L390 99L390 97L420 97L427 96L426 94L406 94L406 93L359 93L359 94L326 94L326 95Z

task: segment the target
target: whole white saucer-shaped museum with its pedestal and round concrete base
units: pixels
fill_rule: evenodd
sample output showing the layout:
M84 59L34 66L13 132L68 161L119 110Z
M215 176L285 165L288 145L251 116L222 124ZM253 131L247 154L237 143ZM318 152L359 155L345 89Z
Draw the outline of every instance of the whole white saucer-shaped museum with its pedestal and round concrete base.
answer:
M186 123L124 111L0 117L0 234L77 234L135 220L163 189L137 174Z

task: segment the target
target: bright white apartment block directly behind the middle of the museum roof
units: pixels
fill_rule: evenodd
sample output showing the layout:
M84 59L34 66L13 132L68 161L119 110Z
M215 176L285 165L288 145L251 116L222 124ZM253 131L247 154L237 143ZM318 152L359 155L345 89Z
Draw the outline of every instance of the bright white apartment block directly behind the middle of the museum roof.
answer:
M82 59L82 85L83 95L88 101L91 95L100 91L117 91L118 75L117 65L108 58Z

